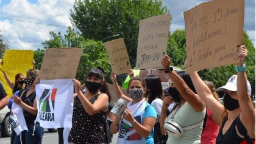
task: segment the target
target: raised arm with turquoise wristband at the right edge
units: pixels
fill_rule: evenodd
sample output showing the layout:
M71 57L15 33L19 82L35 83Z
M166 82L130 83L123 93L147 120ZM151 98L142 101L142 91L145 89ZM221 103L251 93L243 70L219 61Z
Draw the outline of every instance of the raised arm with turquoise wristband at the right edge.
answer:
M247 55L248 51L246 46L239 47L238 52L236 53L236 57L240 59L237 63L238 69L244 66L243 62ZM247 77L244 70L238 70L236 81L238 101L241 109L240 119L245 126L249 137L255 139L255 109L247 90Z

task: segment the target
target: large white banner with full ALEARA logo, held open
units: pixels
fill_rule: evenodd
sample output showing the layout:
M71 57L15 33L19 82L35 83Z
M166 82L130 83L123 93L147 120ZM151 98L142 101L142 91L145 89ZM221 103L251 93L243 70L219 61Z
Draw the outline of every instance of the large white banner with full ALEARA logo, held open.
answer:
M43 128L71 128L74 85L71 79L40 80L37 121Z

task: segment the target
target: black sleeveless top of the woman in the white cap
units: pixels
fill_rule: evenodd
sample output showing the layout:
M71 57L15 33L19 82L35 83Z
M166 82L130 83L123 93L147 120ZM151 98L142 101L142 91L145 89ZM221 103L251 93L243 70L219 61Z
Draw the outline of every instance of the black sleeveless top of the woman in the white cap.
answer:
M229 129L227 129L226 133L223 134L222 129L223 129L226 122L227 122L227 120L224 120L224 122L222 122L221 128L219 129L219 134L218 134L217 139L216 139L216 144L222 144L222 143L223 144L226 144L226 143L240 144L240 143L246 142L246 138L247 138L247 140L251 140L251 142L254 141L254 143L255 143L255 139L252 140L247 135L246 128L244 128L243 123L241 123L239 115L232 122ZM236 134L235 126L238 129L238 132L241 135L244 135L245 138L241 138Z

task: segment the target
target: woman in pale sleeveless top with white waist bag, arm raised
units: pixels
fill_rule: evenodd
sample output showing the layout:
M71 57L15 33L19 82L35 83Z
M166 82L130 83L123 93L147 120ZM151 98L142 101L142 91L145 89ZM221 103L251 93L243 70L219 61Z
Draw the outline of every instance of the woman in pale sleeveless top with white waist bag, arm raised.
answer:
M183 130L180 137L172 134L168 129L168 140L166 143L201 143L202 125L205 117L205 103L196 94L194 85L188 74L184 71L177 72L170 67L170 58L165 55L162 59L162 67L169 79L172 80L172 86L168 88L171 97L163 99L163 107L160 117L160 128L165 135L169 122L176 122L181 128L195 126L192 129ZM175 102L171 114L166 117L166 111L170 103ZM165 125L165 126L164 126ZM179 129L180 130L180 129Z

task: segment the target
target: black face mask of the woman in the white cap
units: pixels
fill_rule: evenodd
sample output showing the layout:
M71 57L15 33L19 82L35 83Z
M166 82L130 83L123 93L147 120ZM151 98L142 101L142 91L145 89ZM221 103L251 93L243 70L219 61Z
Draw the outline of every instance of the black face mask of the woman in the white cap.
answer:
M223 104L224 104L225 108L229 111L233 111L239 107L238 100L235 100L232 97L230 97L230 95L227 94L227 92L225 92L225 94L224 94Z

